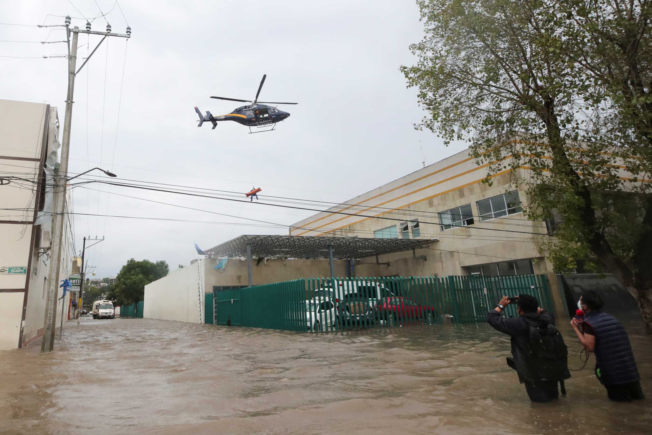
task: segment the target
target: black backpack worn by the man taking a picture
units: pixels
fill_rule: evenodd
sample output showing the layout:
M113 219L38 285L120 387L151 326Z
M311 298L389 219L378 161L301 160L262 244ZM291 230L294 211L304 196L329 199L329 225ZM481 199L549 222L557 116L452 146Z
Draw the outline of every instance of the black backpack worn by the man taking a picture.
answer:
M552 324L542 325L525 320L529 326L531 367L542 380L561 381L570 378L569 351L561 333Z

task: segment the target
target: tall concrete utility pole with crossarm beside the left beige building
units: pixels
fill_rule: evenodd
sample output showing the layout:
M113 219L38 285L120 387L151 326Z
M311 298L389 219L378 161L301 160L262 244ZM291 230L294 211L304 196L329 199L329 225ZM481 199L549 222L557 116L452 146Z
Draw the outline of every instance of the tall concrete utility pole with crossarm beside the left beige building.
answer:
M66 97L66 115L63 122L63 140L61 141L61 165L55 172L53 186L54 213L52 214L52 249L50 250L50 271L48 272L48 299L44 318L45 333L41 342L41 352L51 352L54 348L55 325L57 324L57 312L55 310L57 297L59 295L59 278L61 271L61 247L63 245L63 224L65 222L65 200L66 186L68 184L68 151L70 150L70 125L72 125L72 104L74 103L75 77L82 70L83 66L91 59L91 56L98 49L100 44L107 37L131 37L131 28L126 28L126 34L111 33L111 25L106 25L106 32L91 31L91 23L86 23L86 30L80 30L75 26L70 29L70 16L66 17L66 33L68 40L72 33L72 45L68 48L68 93ZM99 44L87 57L82 66L77 67L77 41L80 33L89 35L103 35ZM81 286L80 286L81 287ZM81 289L80 289L81 290ZM63 314L62 314L63 321ZM63 323L62 323L63 324Z

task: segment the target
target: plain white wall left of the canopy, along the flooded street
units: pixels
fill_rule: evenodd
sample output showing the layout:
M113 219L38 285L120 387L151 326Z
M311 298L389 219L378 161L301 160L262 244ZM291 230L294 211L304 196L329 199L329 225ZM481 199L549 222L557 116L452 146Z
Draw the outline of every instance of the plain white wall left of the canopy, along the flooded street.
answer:
M177 269L167 277L147 284L143 317L201 323L198 290L198 280L200 280L198 273L200 272L203 274L203 260ZM201 309L203 310L203 292L201 297Z

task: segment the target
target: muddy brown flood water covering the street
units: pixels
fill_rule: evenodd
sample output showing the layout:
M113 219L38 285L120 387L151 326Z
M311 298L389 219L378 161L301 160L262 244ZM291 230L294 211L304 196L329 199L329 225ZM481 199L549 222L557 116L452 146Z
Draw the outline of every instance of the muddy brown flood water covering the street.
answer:
M610 402L591 357L568 397L536 404L486 324L310 335L84 317L55 352L0 351L0 433L649 434L652 337L627 329L647 400Z

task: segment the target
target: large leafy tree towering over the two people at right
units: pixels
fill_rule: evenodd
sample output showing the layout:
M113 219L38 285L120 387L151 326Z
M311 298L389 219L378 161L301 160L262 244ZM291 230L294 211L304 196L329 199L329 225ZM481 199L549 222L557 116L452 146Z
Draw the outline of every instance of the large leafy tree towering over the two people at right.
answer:
M635 4L636 3L636 4ZM557 270L613 273L652 325L652 59L639 0L419 0L419 60L401 67L427 114L466 140L484 182L526 183L527 217L557 217ZM527 170L526 177L523 177Z

